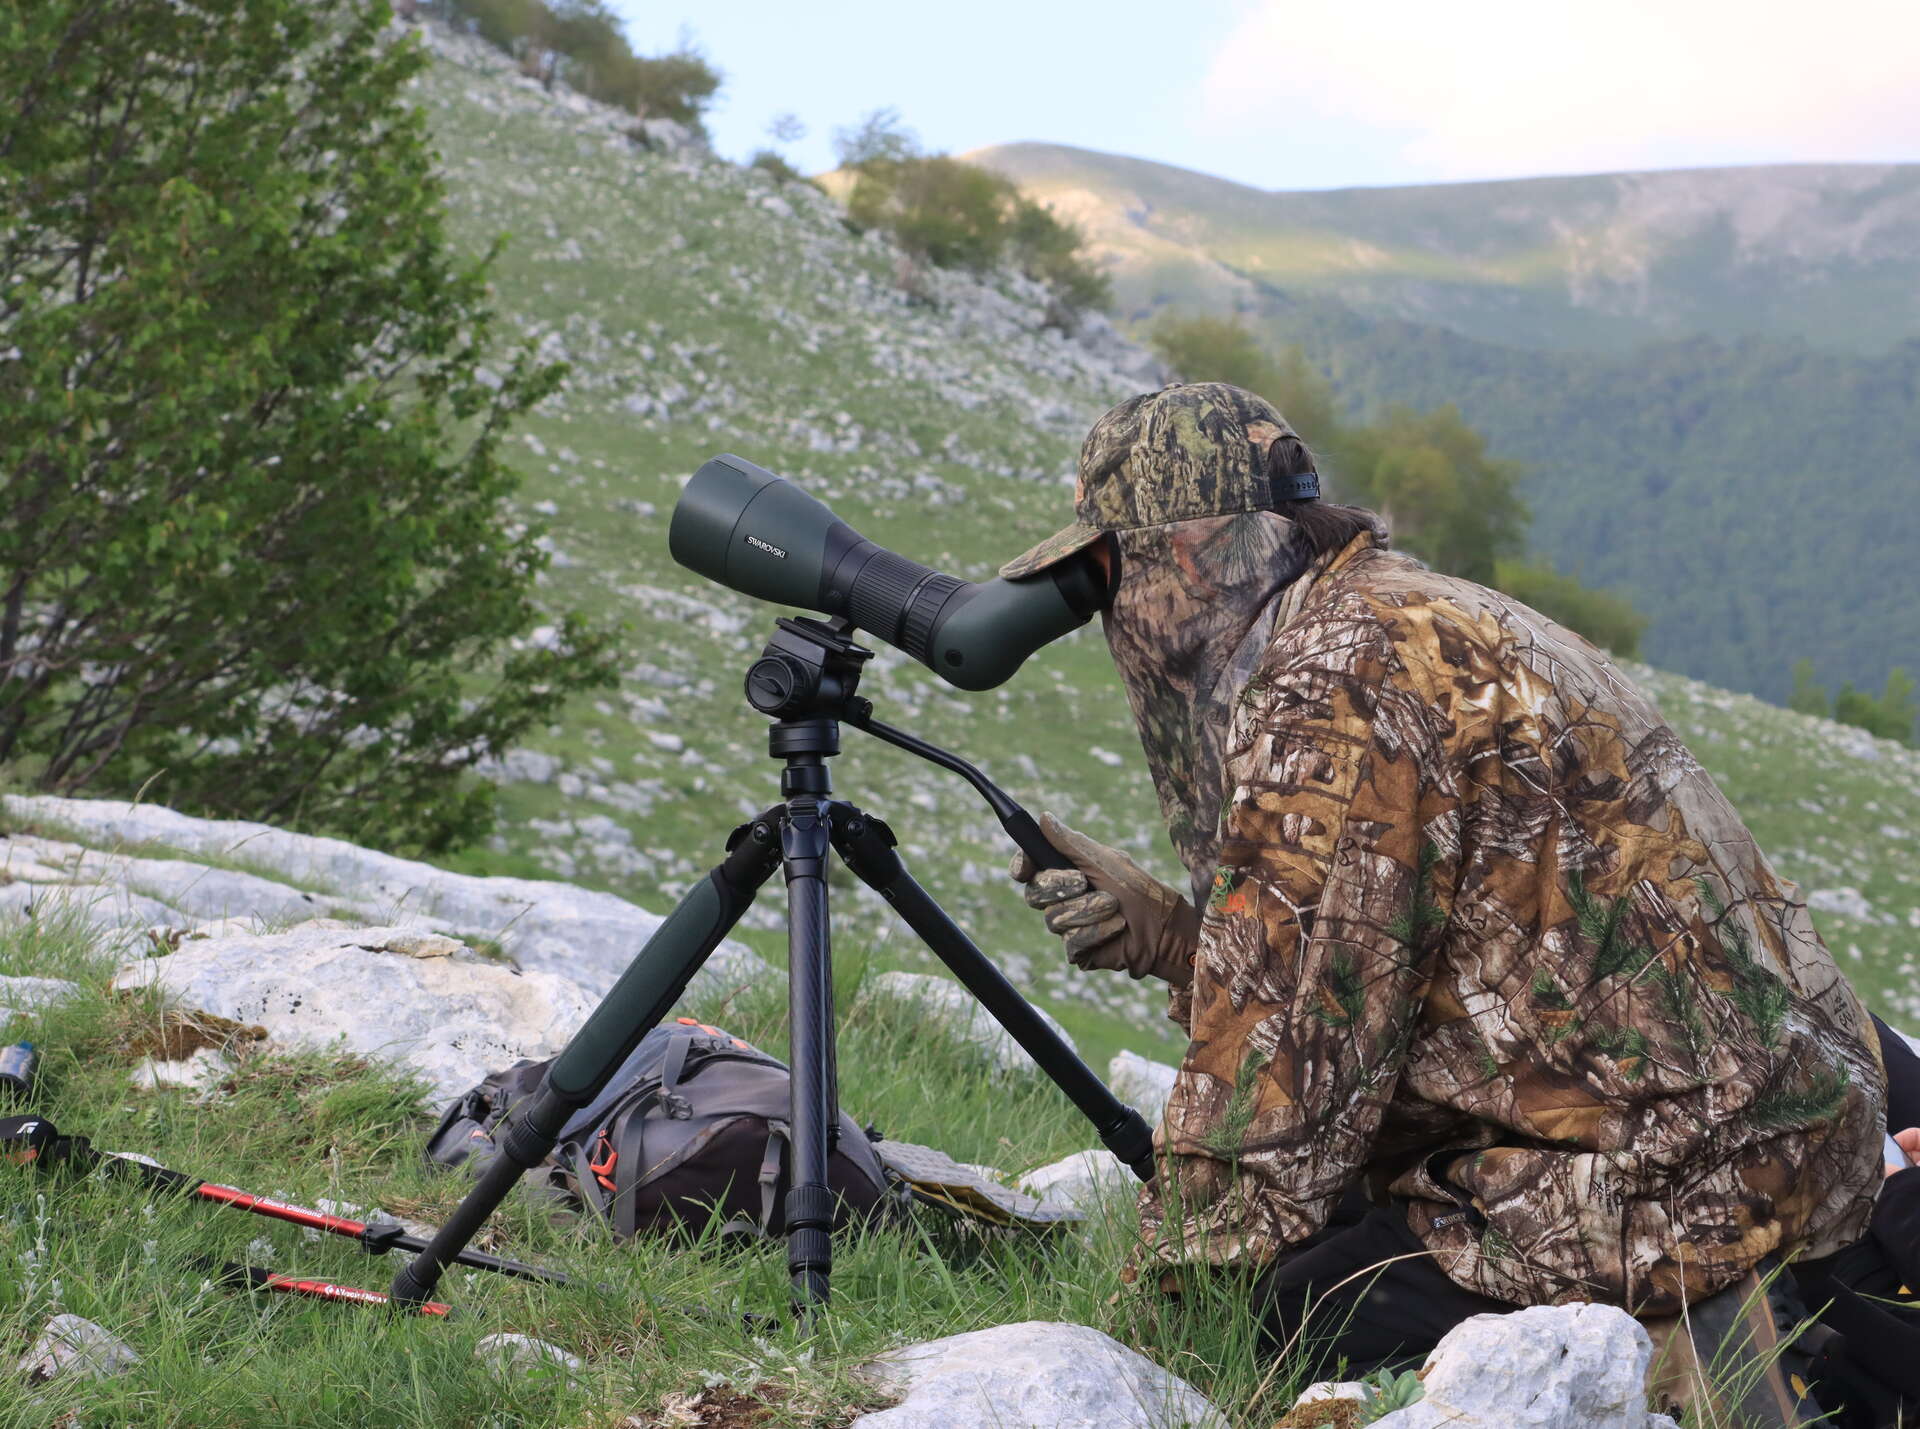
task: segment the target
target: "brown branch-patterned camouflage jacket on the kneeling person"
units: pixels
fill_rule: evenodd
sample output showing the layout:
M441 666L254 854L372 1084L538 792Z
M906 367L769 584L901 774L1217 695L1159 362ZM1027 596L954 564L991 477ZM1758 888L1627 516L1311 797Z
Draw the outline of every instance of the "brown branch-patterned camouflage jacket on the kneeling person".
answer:
M1148 1264L1263 1264L1361 1177L1521 1304L1670 1314L1862 1233L1866 1014L1605 655L1365 536L1265 651Z

